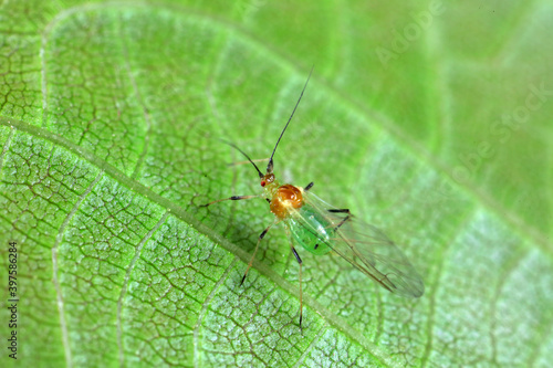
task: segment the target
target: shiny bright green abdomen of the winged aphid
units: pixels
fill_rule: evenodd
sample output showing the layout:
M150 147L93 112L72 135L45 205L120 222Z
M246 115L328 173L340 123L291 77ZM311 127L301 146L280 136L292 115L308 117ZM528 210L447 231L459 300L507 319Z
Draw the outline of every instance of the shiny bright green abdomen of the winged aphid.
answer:
M326 245L333 235L333 229L326 219L313 208L304 206L300 210L305 224L290 219L290 231L294 240L313 254L326 254L331 248Z

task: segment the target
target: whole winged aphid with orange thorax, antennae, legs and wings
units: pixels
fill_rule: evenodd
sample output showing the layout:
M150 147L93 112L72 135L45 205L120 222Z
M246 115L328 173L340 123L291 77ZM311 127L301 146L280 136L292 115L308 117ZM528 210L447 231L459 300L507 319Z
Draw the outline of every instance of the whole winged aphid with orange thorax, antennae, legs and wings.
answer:
M264 198L269 202L269 208L275 219L259 235L255 250L241 283L244 282L246 275L255 259L259 244L267 232L273 225L280 222L284 223L290 248L300 264L300 326L303 315L302 260L294 249L294 243L317 255L334 251L392 293L406 297L419 297L425 291L420 276L399 248L376 227L357 220L348 209L334 208L310 192L313 182L303 188L290 183L280 185L276 180L273 174L273 156L294 116L309 80L307 77L292 115L274 145L265 174L259 170L258 166L246 153L233 144L227 143L238 149L253 165L258 171L263 192L258 196L232 196L204 204L204 207L208 207L220 201L251 198Z

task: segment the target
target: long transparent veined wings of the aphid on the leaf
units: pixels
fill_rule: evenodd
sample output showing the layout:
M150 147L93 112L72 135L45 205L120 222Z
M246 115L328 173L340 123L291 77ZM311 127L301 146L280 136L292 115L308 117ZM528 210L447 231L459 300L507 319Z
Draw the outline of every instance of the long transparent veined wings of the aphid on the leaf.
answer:
M326 232L331 236L321 236L320 230L305 221L300 209L292 215L302 227L392 293L405 297L422 295L425 285L419 274L386 234L347 212L333 212L335 207L313 193L305 192L304 199L306 209L313 208L325 219Z

